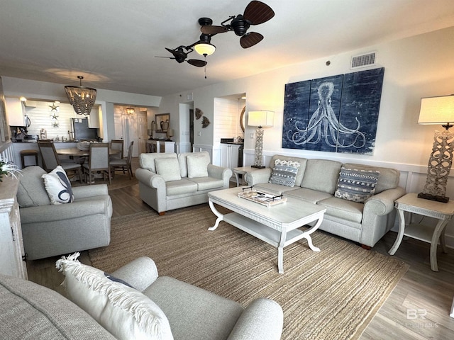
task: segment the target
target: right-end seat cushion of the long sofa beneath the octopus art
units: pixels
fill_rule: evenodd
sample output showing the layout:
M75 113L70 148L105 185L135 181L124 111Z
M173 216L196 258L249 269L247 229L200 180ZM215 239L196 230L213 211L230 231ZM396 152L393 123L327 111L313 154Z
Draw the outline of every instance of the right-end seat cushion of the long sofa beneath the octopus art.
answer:
M343 220L360 223L362 220L362 210L364 204L343 200L342 198L331 197L317 202L323 208L326 208L325 215L340 217Z

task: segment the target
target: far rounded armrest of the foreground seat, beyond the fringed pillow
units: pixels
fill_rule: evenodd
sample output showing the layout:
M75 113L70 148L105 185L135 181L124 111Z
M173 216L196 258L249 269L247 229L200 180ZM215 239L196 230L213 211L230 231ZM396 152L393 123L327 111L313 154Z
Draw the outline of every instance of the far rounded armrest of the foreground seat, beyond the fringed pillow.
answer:
M142 256L114 271L112 275L143 292L157 279L157 267L155 261Z

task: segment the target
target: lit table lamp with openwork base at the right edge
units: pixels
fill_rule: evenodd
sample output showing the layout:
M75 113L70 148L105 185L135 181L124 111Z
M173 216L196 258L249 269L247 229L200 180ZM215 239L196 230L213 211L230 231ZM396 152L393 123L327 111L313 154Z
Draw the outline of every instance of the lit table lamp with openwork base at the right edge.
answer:
M418 124L441 125L443 132L435 131L431 156L428 159L427 179L419 198L448 203L446 184L453 164L454 134L449 128L454 123L454 94L421 98Z

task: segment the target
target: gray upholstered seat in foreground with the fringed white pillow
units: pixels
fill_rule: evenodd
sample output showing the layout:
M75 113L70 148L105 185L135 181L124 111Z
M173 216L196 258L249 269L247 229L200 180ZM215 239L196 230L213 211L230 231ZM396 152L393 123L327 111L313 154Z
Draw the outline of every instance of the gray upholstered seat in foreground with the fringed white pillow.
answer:
M77 268L79 270L79 268ZM89 272L97 271L89 267L79 271L85 278ZM68 273L65 273L68 280ZM170 324L174 340L278 340L282 333L283 313L277 302L265 298L253 300L248 307L228 300L201 288L166 276L158 276L157 268L152 259L141 257L128 263L112 273L112 276L132 286L122 288L122 283L106 283L107 278L101 272L99 280L93 278L91 295L88 284L79 290L67 292L68 297L21 278L13 278L0 274L0 338L9 340L108 340L119 336L113 328L126 333L131 329L131 319L123 315L135 314L134 308L127 309L128 304L119 305L118 293L126 289L136 310L143 311L140 303L151 299L165 314ZM84 280L79 278L79 280ZM74 282L74 280L72 280ZM70 282L67 282L67 287ZM135 291L136 290L136 291ZM141 292L141 293L140 293ZM121 292L119 292L121 293ZM84 305L81 300L89 300ZM87 296L89 296L87 298ZM109 300L107 300L109 296ZM133 298L136 297L136 300ZM104 300L106 299L106 300ZM137 301L138 303L135 303ZM101 314L94 313L96 308L106 305ZM84 306L85 311L82 307ZM109 308L107 318L101 315ZM101 306L101 307L99 307ZM109 310L109 311L111 311ZM145 313L143 313L145 314ZM118 317L122 315L122 317ZM139 315L140 316L140 315ZM99 322L99 323L98 323ZM109 329L107 331L104 327ZM113 334L116 334L114 336ZM125 337L123 336L123 339ZM127 336L127 339L135 339ZM150 339L140 337L140 339ZM162 339L153 337L153 339ZM169 339L167 336L165 339Z

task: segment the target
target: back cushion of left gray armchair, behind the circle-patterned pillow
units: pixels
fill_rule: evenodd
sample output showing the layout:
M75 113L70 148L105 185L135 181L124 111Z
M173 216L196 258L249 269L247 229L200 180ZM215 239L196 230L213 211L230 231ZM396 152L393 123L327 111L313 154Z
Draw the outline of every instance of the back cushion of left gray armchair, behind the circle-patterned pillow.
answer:
M50 205L41 176L47 174L40 166L27 166L19 176L17 202L21 208Z

